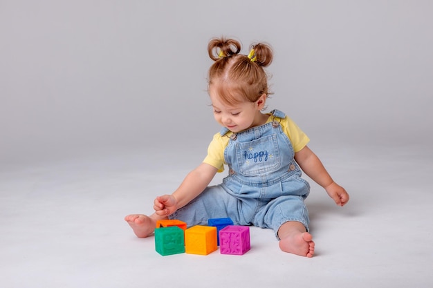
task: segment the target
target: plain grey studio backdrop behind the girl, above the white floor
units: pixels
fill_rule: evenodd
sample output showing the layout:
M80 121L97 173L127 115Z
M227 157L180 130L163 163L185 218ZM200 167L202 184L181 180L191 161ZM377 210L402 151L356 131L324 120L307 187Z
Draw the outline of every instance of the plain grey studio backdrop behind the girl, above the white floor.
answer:
M314 142L432 143L431 1L0 1L0 159L217 131L209 39L275 49L278 108ZM187 136L187 137L185 137ZM152 140L151 140L152 139Z

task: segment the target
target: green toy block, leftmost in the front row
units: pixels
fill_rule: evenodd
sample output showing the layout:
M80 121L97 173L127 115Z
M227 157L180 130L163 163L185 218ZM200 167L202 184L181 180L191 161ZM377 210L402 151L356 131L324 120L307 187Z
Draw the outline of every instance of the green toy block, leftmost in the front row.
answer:
M177 226L155 229L155 250L162 256L185 253L185 231Z

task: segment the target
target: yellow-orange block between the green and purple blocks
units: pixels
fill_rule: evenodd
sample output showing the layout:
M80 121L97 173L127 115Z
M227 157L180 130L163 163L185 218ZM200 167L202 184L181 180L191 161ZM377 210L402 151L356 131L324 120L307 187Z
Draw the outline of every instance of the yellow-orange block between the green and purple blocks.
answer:
M185 230L186 253L208 255L216 249L216 227L196 225Z

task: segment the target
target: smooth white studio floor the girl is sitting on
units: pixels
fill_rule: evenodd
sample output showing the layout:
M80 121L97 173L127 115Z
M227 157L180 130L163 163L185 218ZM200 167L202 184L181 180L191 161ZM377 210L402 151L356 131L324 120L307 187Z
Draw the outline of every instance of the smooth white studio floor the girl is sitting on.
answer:
M2 166L0 287L432 287L431 147L314 150L351 201L337 207L311 185L311 259L255 227L244 256L160 256L154 238L133 236L124 216L151 212L203 153Z

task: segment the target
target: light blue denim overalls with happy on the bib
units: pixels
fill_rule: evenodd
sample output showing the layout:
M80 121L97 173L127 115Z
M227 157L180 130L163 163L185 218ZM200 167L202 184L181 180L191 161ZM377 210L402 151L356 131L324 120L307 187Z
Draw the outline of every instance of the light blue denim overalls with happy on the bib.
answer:
M231 218L235 225L255 225L277 232L287 221L304 224L304 199L310 186L301 178L293 146L279 124L281 111L271 112L273 122L232 133L224 151L228 176L209 186L185 207L169 216L188 227L207 225L210 218ZM227 128L221 135L228 137Z

